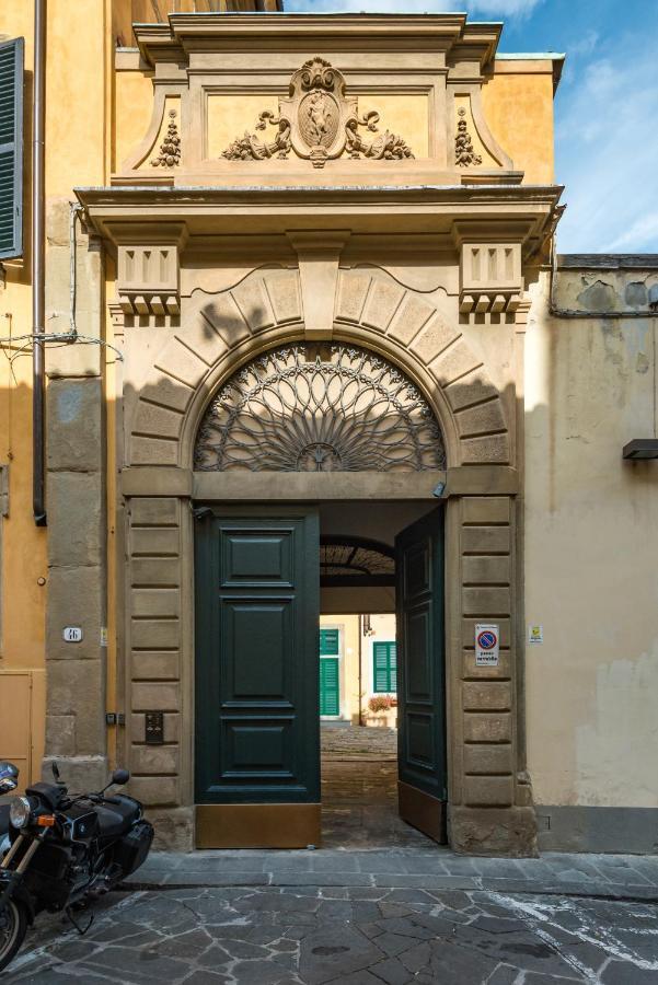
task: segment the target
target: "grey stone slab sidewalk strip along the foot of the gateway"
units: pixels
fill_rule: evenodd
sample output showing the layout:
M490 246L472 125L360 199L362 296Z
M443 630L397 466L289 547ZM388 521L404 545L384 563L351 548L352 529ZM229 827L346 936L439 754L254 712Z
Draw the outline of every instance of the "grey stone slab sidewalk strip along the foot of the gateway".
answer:
M439 847L153 853L127 884L147 890L184 885L425 887L658 901L658 856L545 853L539 859L475 858Z

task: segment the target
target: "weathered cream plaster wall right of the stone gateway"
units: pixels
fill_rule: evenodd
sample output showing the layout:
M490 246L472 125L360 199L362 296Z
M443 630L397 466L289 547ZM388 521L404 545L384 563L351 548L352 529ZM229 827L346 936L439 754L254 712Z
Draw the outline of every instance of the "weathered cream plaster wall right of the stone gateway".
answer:
M605 271L558 276L572 306L592 285L620 288ZM535 802L656 807L658 463L622 448L656 434L658 329L550 318L542 287L526 349L526 616L544 629L527 646Z

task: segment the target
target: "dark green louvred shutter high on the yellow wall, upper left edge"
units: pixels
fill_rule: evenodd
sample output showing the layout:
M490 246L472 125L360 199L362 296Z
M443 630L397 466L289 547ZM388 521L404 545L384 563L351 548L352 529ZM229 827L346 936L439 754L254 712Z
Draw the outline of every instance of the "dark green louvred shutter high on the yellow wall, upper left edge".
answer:
M0 44L0 259L23 253L23 48Z

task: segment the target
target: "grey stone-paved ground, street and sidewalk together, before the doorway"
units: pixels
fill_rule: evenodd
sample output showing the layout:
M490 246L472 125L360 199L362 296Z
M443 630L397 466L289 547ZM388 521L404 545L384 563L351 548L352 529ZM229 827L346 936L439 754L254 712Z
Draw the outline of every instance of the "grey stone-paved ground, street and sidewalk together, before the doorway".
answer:
M2 981L658 982L656 857L161 853L126 889L94 906L83 938L42 917Z

